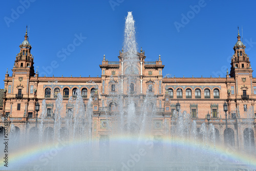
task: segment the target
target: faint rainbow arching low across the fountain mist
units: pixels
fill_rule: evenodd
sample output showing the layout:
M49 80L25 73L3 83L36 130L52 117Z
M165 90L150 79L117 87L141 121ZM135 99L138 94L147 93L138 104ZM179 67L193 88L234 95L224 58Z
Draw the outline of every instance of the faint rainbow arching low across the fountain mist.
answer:
M56 143L46 143L44 145L33 145L22 149L16 149L15 151L9 151L8 153L8 169L19 169L20 167L26 167L26 165L31 165L30 163L37 163L41 156L44 156L49 152L61 152L65 151L67 148L80 149L81 146L91 147L92 145L97 145L98 140L85 140L85 139L75 139L70 141L61 142L56 141ZM133 145L136 147L138 144L144 144L145 147L151 148L153 145L153 138L151 136L144 136L138 140L134 137L129 136L114 136L110 139L111 144L122 144L122 145ZM162 139L162 144L166 148L176 147L176 148L188 148L191 151L197 151L203 154L208 154L211 156L216 156L217 160L221 163L238 163L245 166L246 168L256 169L256 157L255 155L248 155L244 152L234 151L232 147L208 144L204 144L201 141L191 141L185 140L181 137L164 137ZM3 154L3 153L2 153ZM1 158L3 160L3 155ZM4 162L0 164L0 170L8 170L4 166Z

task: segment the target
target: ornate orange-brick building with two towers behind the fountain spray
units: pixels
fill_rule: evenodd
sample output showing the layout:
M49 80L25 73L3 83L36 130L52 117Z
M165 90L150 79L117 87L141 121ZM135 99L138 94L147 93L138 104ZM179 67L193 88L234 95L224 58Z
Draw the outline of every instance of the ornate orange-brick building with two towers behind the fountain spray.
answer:
M28 136L35 127L37 102L42 106L42 101L46 100L46 119L54 122L58 93L63 96L64 112L61 117L73 117L69 99L71 96L76 98L79 89L85 105L92 97L90 108L93 111L91 123L94 138L108 137L108 128L118 117L119 106L122 105L125 112L131 103L128 100L130 97L134 99L133 105L138 113L143 110L145 99L150 97L147 113L155 114L150 124L154 135L161 136L159 130L169 129L174 124L173 114L180 104L181 111L190 114L191 119L197 122L198 129L203 122L214 124L218 141L227 141L237 148L248 145L255 147L256 78L252 77L249 57L239 32L238 41L233 47L231 70L224 78L163 77L165 66L161 56L155 62L145 61L142 49L130 67L125 65L123 50L119 52L118 61L108 61L104 56L99 66L101 77L39 77L34 71L34 57L30 53L27 31L19 48L12 75L8 72L5 75L2 115L8 116L15 125L16 133L22 136ZM227 103L226 116L224 103ZM209 120L207 114L210 115ZM139 127L139 123L134 124ZM0 126L3 126L3 122ZM48 127L49 130L51 128ZM227 132L229 139L225 139L224 132Z

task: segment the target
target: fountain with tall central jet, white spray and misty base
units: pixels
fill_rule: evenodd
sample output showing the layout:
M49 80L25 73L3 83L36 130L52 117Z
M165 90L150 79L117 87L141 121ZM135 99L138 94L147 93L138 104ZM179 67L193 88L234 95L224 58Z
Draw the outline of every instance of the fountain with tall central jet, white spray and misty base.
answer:
M124 65L128 70L121 76L128 85L133 83L136 86L139 74L133 67L138 61L134 23L132 12L129 12L124 31ZM197 123L186 111L174 111L172 125L153 123L156 108L150 102L156 97L147 92L138 111L134 101L139 99L133 94L134 88L128 89L128 105L124 107L122 85L117 87L121 91L113 97L119 103L114 109L115 120L106 126L109 135L99 138L92 135L91 104L97 97L97 90L87 104L84 104L81 92L77 90L75 97L70 97L67 104L72 107L67 112L68 117L62 117L66 111L58 93L53 119L47 118L46 101L43 100L38 129L16 137L15 128L10 123L9 166L5 167L2 163L0 169L139 171L256 168L255 157L217 143L214 125L203 123L198 130ZM156 127L162 124L164 129L158 129L152 136L152 124Z

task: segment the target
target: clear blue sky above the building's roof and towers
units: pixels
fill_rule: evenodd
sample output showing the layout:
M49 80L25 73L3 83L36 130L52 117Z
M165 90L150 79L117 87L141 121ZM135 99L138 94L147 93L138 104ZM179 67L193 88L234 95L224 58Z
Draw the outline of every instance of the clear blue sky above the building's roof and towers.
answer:
M4 79L7 68L12 74L26 25L30 26L31 53L40 76L52 61L58 67L49 69L48 76L100 76L104 54L109 61L118 61L128 11L135 19L138 51L142 47L146 61L156 61L160 54L165 65L163 75L224 77L226 69L230 71L238 26L243 26L246 53L255 70L255 7L256 1L237 0L5 1L0 10L0 79ZM182 27L177 29L175 23ZM76 35L86 39L74 46ZM65 58L61 50L68 47L75 49L70 49ZM0 88L4 88L4 82Z

